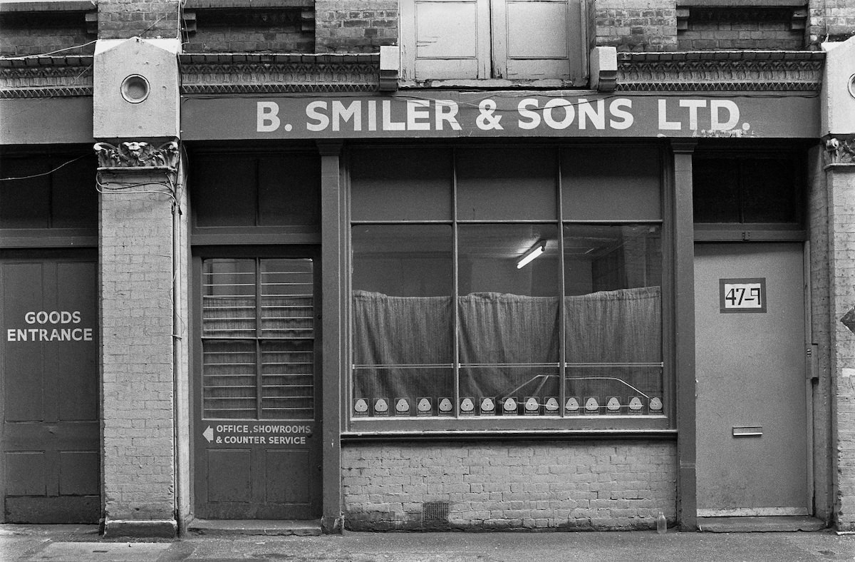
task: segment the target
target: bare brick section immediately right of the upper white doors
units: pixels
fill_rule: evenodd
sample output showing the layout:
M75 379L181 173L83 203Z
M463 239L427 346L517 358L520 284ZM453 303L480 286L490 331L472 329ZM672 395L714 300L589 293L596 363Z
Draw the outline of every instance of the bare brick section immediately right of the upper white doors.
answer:
M593 18L592 46L621 51L677 49L674 0L597 0L589 17Z

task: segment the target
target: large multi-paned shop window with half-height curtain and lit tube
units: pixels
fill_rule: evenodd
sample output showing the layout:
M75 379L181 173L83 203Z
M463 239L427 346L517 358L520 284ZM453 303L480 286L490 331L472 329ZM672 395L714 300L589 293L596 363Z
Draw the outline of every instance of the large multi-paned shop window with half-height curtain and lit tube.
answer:
M660 159L608 158L352 152L354 421L665 415Z

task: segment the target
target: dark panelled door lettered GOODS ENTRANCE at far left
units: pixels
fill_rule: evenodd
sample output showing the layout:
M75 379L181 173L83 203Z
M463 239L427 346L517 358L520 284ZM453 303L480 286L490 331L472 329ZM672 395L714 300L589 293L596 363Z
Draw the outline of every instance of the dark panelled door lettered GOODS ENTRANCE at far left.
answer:
M94 251L3 251L3 456L7 523L100 516Z

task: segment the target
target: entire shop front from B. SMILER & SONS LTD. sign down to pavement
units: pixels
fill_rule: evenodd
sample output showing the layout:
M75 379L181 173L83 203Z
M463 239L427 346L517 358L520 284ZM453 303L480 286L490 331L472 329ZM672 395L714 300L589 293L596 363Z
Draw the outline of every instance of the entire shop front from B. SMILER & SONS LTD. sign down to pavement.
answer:
M567 93L183 98L198 518L812 514L818 99Z

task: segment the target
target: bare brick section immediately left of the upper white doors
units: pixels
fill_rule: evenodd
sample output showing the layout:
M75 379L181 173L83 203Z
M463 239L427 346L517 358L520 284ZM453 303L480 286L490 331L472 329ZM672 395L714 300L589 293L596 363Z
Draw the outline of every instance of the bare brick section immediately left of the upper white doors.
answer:
M316 0L315 52L375 53L398 44L398 0Z

